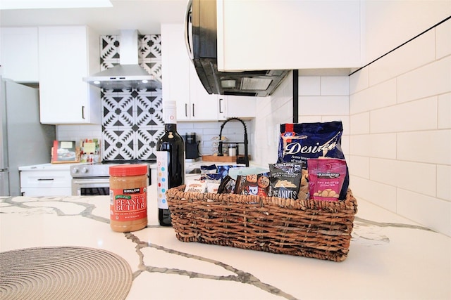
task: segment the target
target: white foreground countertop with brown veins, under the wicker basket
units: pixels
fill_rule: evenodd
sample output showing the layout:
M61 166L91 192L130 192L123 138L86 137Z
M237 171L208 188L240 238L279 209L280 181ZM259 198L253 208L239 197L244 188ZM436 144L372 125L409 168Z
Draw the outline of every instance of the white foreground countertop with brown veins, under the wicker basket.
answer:
M451 299L451 238L359 200L342 262L180 242L158 225L116 233L108 196L0 197L0 252L79 246L121 256L127 299Z

